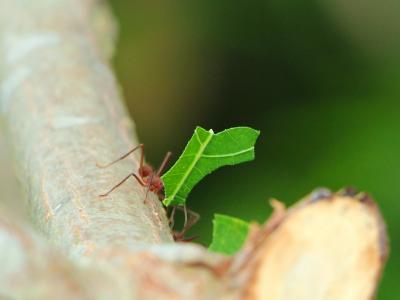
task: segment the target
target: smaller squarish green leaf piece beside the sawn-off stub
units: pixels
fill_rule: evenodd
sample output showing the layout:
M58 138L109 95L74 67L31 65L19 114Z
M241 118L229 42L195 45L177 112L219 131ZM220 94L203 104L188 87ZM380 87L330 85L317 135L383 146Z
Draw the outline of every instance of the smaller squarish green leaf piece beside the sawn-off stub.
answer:
M228 255L240 250L249 233L250 224L225 215L214 215L213 240L210 251Z

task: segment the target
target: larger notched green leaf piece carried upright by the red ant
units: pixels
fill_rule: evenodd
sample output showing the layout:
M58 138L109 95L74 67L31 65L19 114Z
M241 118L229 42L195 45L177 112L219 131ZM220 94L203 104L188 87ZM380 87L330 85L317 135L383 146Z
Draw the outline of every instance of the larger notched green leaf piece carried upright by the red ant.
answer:
M204 176L225 165L254 159L254 144L259 131L234 127L214 134L196 127L192 138L177 162L161 179L168 205L183 205L193 187Z

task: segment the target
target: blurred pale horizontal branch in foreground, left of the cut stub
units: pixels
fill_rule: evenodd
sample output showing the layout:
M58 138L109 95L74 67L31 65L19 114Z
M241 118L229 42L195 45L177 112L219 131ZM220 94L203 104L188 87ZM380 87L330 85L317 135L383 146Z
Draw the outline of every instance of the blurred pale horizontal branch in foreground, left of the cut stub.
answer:
M4 214L0 218L2 299L222 297L221 282L210 268L223 258L200 246L104 249L96 259L70 259Z

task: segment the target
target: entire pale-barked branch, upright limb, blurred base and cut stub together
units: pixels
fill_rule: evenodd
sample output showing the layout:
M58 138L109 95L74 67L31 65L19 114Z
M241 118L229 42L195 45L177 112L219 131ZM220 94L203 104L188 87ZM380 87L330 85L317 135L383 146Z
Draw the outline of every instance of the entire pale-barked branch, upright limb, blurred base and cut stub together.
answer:
M173 243L165 211L109 162L138 141L108 65L102 1L0 0L0 105L36 232L0 210L4 299L370 299L386 233L371 199L318 190L234 257ZM318 286L318 288L316 288Z

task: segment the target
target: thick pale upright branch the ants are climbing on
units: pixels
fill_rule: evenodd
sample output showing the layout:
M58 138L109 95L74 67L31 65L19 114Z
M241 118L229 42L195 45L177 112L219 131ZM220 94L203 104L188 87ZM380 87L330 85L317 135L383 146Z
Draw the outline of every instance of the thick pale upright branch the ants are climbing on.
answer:
M144 190L134 181L107 198L98 196L137 169L136 161L96 167L137 144L99 51L107 43L98 43L90 23L98 3L0 4L7 8L0 13L1 104L19 178L41 231L79 253L99 245L172 241L162 205L155 197L143 204Z

